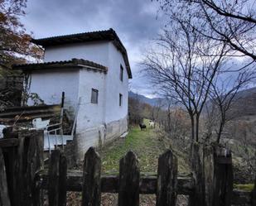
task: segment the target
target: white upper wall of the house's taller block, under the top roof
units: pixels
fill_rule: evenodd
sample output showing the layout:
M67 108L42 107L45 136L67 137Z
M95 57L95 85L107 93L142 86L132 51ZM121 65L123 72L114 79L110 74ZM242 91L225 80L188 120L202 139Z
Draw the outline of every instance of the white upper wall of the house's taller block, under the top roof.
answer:
M117 121L128 115L128 73L123 55L112 42L96 41L72 45L51 46L45 51L45 61L70 60L81 58L108 67L105 79L104 122ZM119 79L120 64L123 65L123 82ZM81 73L82 74L82 73ZM86 76L86 75L84 75ZM82 79L80 78L80 82ZM119 106L119 93L123 95L123 105ZM96 122L99 122L98 120ZM90 121L92 125L93 122Z

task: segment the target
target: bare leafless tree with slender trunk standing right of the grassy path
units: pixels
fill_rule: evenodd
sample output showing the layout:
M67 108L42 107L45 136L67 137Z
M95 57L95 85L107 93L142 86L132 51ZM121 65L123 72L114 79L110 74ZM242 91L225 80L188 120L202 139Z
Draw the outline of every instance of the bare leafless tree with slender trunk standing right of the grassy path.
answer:
M192 17L186 21L177 15L172 18L171 30L164 31L143 65L159 93L186 108L191 118L191 140L199 141L200 114L229 50L225 43L216 44L196 32Z

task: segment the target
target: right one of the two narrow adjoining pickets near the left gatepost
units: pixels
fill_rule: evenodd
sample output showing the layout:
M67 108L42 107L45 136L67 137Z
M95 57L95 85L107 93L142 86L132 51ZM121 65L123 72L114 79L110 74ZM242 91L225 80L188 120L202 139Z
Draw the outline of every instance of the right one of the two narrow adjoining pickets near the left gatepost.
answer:
M60 155L60 184L59 184L59 206L66 205L66 173L67 162L63 154Z

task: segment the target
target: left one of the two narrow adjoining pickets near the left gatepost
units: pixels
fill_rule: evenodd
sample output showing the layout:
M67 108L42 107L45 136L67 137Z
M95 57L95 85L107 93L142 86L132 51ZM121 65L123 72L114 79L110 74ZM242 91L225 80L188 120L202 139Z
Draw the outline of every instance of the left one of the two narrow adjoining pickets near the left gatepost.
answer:
M51 152L49 164L48 199L49 206L59 204L60 150Z

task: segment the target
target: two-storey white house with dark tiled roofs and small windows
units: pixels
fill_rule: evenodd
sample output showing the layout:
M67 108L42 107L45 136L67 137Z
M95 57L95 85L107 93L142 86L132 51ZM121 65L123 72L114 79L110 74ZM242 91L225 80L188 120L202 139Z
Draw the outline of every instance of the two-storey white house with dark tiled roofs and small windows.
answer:
M70 114L80 99L75 140L83 157L89 146L128 129L128 55L113 29L32 40L45 48L44 63L14 65L29 78L29 92L46 104L60 103ZM28 102L31 104L31 102Z

